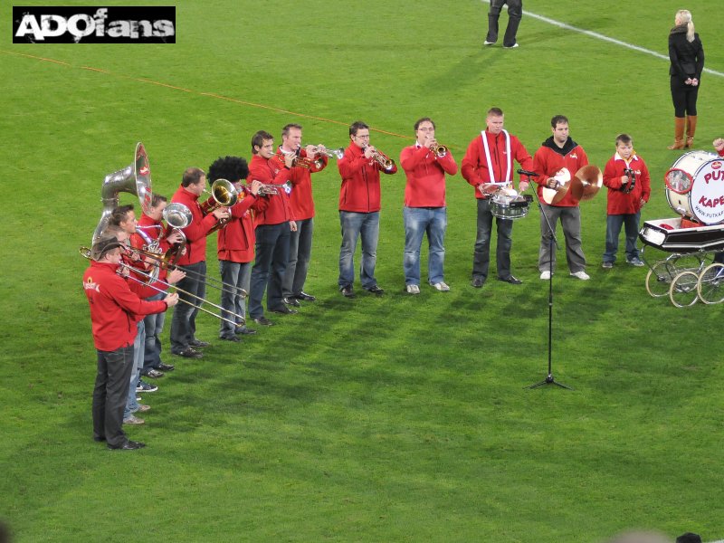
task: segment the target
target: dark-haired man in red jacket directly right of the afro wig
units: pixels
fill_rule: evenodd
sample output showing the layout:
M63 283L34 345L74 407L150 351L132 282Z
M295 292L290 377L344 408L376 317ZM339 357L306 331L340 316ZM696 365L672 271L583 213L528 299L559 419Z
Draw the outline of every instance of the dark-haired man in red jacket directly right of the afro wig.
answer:
M252 137L252 162L249 178L264 185L278 186L279 194L269 195L269 205L256 217L256 260L252 267L252 281L249 290L249 314L257 324L271 326L271 320L264 317L262 299L264 291L266 307L275 313L296 313L284 305L281 281L289 261L290 232L297 229L291 216L289 195L285 184L290 180L292 156L285 156L283 166L270 160L274 156L274 137L269 132L258 131Z

